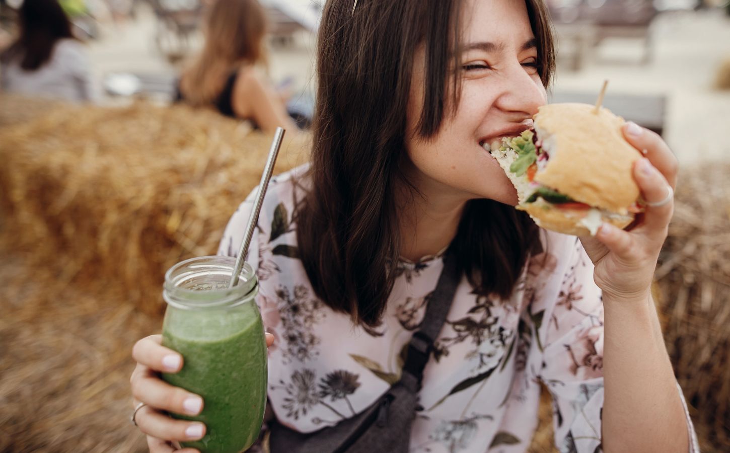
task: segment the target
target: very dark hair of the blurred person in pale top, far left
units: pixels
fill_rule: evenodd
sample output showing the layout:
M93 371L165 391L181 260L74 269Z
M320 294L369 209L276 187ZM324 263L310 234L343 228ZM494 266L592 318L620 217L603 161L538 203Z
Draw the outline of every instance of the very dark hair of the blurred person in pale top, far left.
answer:
M20 36L2 55L2 62L20 58L20 67L35 71L50 60L55 43L75 39L71 22L57 0L26 0L18 10Z

